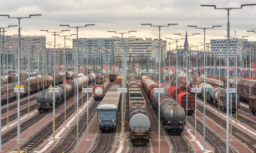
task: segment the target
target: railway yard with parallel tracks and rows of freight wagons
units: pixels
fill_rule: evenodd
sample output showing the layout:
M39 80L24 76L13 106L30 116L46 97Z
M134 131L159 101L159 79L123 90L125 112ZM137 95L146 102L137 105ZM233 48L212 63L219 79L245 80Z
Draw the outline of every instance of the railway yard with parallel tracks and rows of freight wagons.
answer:
M52 83L51 78L45 83L44 88L47 90L40 89L30 95L29 108L28 97L24 94L20 100L20 151L76 153L78 134L78 148L82 153L154 153L158 152L158 132L160 132L161 152L223 153L226 151L227 118L225 105L221 102L221 91L225 88L222 85L223 81L219 81L222 83L222 88L218 88L218 84L213 83L210 78L208 81L211 82L207 81L206 85L201 85L203 83L200 82L202 79L200 77L198 80L193 77L194 80L187 83L183 80L186 76L180 75L178 80L171 79L170 82L161 85L165 91L160 93L159 98L158 92L154 91L159 87L158 84L147 76L137 78L136 75L129 74L126 81L127 92L118 92L122 85L122 75L110 75L109 80L104 79L103 76L96 77L93 73L78 77L78 95L75 95L76 79L65 82L59 77L56 84L59 93L55 95L54 138L53 92L48 90ZM90 85L93 91L83 92L83 87ZM205 137L204 94L196 93L195 101L196 95L192 92L187 93L185 85L188 85L188 92L193 85L198 85L201 90L207 91L205 96L209 96L205 105ZM243 84L240 85L243 87ZM64 91L65 87L66 94L61 93L60 90ZM78 106L74 103L77 96ZM246 97L238 94L237 108L235 100L233 101L235 97L235 95L232 97L232 118L229 119L229 152L254 153L256 152L256 116L248 103L250 99L252 105L253 96L248 97L247 101ZM158 131L158 103L160 103L160 131ZM76 107L79 118L78 130ZM8 115L7 105L2 102L1 125L2 152L17 152L15 99L9 102Z

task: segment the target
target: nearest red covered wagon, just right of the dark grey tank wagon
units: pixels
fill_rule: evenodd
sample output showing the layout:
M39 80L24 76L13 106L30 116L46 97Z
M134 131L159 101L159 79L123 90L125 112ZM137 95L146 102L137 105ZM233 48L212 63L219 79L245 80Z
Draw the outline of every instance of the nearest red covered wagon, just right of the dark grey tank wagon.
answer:
M177 103L184 108L186 111L186 101L187 101L187 112L194 113L195 110L195 97L187 92L180 92L178 94Z

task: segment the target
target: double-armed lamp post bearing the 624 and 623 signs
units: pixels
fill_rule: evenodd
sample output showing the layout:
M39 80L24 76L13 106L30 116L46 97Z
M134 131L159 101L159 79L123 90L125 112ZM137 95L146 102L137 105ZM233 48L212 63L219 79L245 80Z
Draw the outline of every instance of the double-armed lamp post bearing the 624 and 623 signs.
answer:
M56 33L62 33L63 31L69 31L69 30L62 30L62 31L48 31L48 30L40 30L40 31L46 31L47 33L53 33L52 35L54 35L54 66L53 66L53 70L54 70L54 88L55 88L55 62L56 62ZM53 94L53 140L55 139L55 94Z

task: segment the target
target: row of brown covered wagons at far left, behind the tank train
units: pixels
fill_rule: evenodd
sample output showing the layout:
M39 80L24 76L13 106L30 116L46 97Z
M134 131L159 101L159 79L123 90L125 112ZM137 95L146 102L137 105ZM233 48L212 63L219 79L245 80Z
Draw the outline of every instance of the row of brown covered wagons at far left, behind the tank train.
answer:
M53 75L53 74L52 74ZM44 81L44 83L43 83ZM55 76L55 81L56 84L62 83L62 76L60 74L56 74ZM9 83L8 84L8 97L9 101L13 100L16 98L16 93L14 92L14 87L18 83ZM53 84L53 77L49 74L45 74L44 79L42 75L39 77L39 82L38 82L38 77L36 79L30 79L30 80L24 80L20 81L20 85L23 85L24 87L24 92L20 93L20 96L25 96L29 92L37 92L38 90L43 89L43 85L45 85L44 88L49 87L49 85ZM28 91L28 88L30 87L30 90ZM1 85L1 102L5 103L7 101L7 84Z

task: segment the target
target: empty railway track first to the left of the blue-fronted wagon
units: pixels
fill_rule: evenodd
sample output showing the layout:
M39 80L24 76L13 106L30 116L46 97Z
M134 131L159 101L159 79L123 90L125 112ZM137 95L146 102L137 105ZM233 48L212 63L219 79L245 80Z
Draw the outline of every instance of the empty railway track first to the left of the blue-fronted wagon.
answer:
M109 88L111 87L113 83L109 83L107 85L107 87L105 88L105 91L104 92L107 92L107 90L109 90ZM88 108L88 121L91 119L91 117L93 116L93 114L95 113L96 111L96 108L98 107L100 101L94 101L90 107ZM87 112L87 111L86 111ZM78 139L79 139L79 136L81 135L81 133L84 131L84 129L86 128L87 126L87 113L84 113L80 119L79 119L79 123L78 123ZM76 138L76 135L77 135L77 131L76 131L76 125L74 125L71 129L71 131L67 134L67 136L58 144L57 147L55 147L50 153L66 153L68 152L73 146L74 144L77 142L77 138ZM111 137L112 137L113 133L111 134ZM102 145L102 144L101 144ZM108 146L108 149L110 147L110 143L109 143L109 146Z

